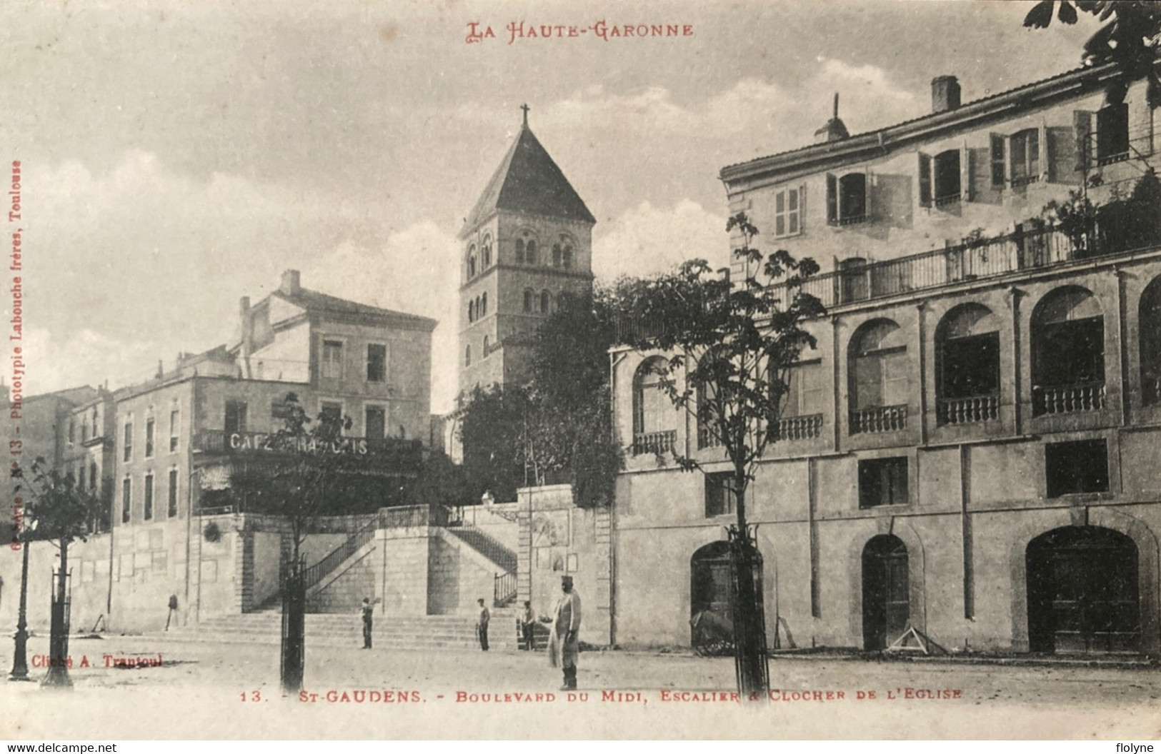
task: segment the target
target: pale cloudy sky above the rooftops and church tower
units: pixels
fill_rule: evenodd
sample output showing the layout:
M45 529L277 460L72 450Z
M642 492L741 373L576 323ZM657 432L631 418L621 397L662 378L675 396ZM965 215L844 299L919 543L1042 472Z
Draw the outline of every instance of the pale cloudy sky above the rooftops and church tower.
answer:
M599 280L724 264L719 171L809 144L836 92L858 133L928 113L936 75L957 75L967 102L1076 67L1094 22L1029 30L1029 7L3 3L0 166L22 166L26 393L131 384L228 342L238 299L294 268L307 288L440 320L432 411L445 412L455 234L521 103L597 218ZM692 34L600 38L601 21ZM468 43L473 22L495 37ZM587 31L511 39L520 22Z

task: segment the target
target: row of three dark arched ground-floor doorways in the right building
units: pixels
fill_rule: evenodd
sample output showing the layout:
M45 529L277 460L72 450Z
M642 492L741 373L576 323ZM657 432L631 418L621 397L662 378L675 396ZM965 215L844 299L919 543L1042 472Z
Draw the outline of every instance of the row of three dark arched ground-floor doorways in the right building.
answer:
M911 553L893 534L866 541L857 567L863 648L884 650L913 622ZM1061 527L1024 552L1030 652L1139 652L1140 553L1127 535L1095 525ZM690 559L694 646L730 624L728 544L713 542Z

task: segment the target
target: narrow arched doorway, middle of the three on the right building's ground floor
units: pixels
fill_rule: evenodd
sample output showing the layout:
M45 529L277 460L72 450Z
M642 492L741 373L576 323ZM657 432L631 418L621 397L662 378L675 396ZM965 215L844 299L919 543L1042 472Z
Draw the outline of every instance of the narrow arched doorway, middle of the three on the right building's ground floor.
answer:
M863 648L885 650L910 621L907 545L880 534L863 548Z

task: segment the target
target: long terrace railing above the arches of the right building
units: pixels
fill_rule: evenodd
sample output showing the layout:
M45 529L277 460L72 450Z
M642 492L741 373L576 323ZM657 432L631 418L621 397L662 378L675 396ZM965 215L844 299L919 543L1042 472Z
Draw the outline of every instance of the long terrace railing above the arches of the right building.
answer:
M1094 222L1088 229L1072 234L1059 227L1046 226L991 239L973 239L910 256L815 275L803 282L799 290L831 309L1120 254L1134 251L1134 245L1153 248L1161 242L1161 239L1140 238L1131 241L1122 226L1123 224L1112 222ZM1146 245L1141 246L1142 242ZM655 313L626 314L616 321L616 336L620 342L633 342L657 336L673 326L680 325L669 322Z

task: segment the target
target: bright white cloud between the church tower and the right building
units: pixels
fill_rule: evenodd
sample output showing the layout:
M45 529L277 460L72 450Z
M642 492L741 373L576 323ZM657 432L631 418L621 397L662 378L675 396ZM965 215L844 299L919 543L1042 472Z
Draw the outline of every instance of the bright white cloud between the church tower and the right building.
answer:
M671 209L642 202L597 235L592 258L593 273L604 280L646 276L698 258L724 266L729 258L726 218L690 200Z

